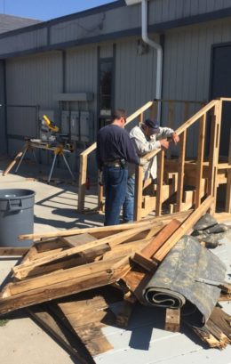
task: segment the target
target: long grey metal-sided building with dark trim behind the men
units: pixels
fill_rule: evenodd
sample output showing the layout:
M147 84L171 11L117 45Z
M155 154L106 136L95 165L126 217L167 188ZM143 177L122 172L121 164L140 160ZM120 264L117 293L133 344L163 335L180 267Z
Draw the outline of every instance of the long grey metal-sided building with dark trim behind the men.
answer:
M46 112L71 132L77 170L77 155L112 109L131 114L156 98L157 55L141 38L141 3L147 34L163 49L161 97L231 96L231 0L119 0L0 35L1 153L12 155L25 136L36 137Z

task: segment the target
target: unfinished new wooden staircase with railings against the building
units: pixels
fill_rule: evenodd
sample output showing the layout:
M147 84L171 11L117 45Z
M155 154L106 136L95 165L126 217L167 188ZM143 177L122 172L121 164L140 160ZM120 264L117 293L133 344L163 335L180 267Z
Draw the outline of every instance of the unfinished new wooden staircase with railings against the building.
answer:
M201 107L203 102L198 101L149 101L142 108L135 111L127 118L127 124L135 118L139 123L149 112L149 117L156 117L158 104L167 104L168 115L171 119L168 125L174 128L173 104L182 107L182 114L185 122L176 130L179 134L178 158L171 158L170 153L164 150L154 150L148 153L145 158L157 158L157 182L152 184L151 180L143 182L142 166L136 168L136 191L135 191L135 220L155 213L160 216L163 213L175 213L186 211L192 206L198 207L203 199L211 195L215 203L211 206L210 213L216 211L216 198L219 185L226 184L226 204L224 211L231 214L231 139L229 156L227 160L219 161L219 138L221 126L221 113L223 102L230 102L231 99L221 98L213 100L199 109L195 115L187 118L191 105ZM178 105L178 106L179 106ZM197 125L197 156L188 159L187 156L187 137L193 125ZM207 129L206 129L207 128ZM205 133L210 129L210 133ZM210 150L205 156L205 146L209 145ZM80 155L80 175L78 189L78 211L84 212L85 183L87 175L87 158L96 143L84 150ZM165 155L166 154L166 155ZM99 186L98 210L103 208L103 188Z

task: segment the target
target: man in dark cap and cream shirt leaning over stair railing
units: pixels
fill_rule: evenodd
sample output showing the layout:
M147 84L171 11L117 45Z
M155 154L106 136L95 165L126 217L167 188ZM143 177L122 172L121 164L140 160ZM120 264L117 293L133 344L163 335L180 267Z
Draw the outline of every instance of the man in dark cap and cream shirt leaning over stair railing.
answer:
M139 157L144 157L148 152L159 148L168 149L170 141L175 144L179 142L179 136L169 127L161 127L158 122L147 118L144 123L131 129L131 142ZM143 179L151 177L156 179L157 160L156 157L147 161L143 166ZM129 166L129 177L127 192L123 203L123 222L133 221L135 194L135 168Z

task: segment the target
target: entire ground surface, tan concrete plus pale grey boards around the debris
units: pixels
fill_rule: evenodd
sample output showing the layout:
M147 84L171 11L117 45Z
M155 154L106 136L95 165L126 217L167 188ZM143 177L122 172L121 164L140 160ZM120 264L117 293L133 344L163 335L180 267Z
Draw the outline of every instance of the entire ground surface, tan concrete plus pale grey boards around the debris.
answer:
M4 170L4 164L1 169ZM35 232L55 231L86 226L100 226L103 216L77 214L76 185L68 182L67 171L56 171L62 183L53 185L28 178L41 178L34 165L21 167L20 175L0 174L0 188L22 188L36 191ZM63 180L64 178L64 180ZM65 182L63 182L65 181ZM97 205L95 187L88 191L86 207ZM227 264L227 279L231 277L231 234L214 253ZM17 259L0 257L0 282L4 280ZM222 303L231 314L231 303ZM115 308L116 310L116 308ZM223 351L206 349L203 343L185 329L182 333L169 333L158 328L161 311L136 309L128 330L104 328L104 333L115 349L95 358L97 364L230 364L231 345ZM4 327L0 327L1 364L69 364L73 361L67 352L43 329L23 314L11 315ZM141 320L142 319L142 320Z

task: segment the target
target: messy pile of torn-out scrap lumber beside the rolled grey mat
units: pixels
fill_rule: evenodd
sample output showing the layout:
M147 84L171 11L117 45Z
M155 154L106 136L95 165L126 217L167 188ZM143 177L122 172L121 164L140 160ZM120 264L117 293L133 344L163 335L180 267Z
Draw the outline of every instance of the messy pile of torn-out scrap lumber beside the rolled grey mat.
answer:
M92 356L112 349L101 328L127 327L134 303L147 304L144 290L166 255L212 201L208 197L198 209L140 222L21 237L36 242L4 284L0 314L26 308L71 355L94 362ZM229 298L227 285L216 289L216 302L221 289ZM110 304L121 300L115 316ZM203 327L191 328L211 347L222 348L230 344L230 317L214 307ZM179 330L179 319L180 307L170 304L165 328Z

